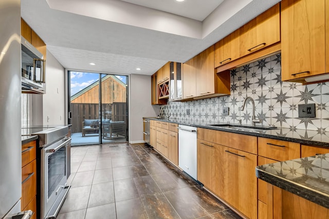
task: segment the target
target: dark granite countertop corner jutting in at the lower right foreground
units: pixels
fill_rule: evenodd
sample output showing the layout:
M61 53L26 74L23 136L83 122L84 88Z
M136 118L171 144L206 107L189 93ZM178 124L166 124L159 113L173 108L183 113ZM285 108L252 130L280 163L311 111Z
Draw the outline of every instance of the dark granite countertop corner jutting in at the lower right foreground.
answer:
M256 167L263 181L329 208L329 153Z

